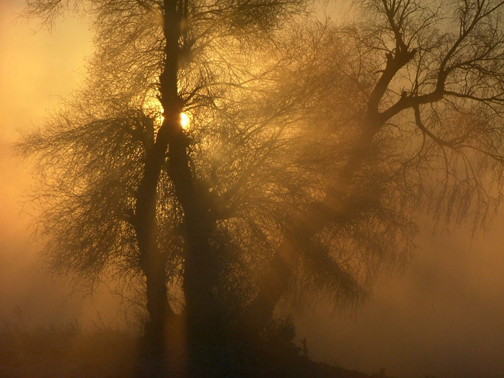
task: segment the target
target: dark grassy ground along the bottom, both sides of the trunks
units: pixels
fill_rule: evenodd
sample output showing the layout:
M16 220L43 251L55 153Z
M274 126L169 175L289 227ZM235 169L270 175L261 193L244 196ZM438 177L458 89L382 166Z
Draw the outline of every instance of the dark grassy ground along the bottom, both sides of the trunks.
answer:
M0 377L152 377L149 368L138 368L139 345L138 335L105 326L83 329L78 324L67 324L28 329L6 324L0 329ZM279 346L274 340L262 349L211 346L210 354L219 359L217 365L207 364L202 357L200 366L189 368L190 375L171 372L166 377L369 378L356 371L312 362L301 355L300 348L285 345ZM215 366L219 373L215 373Z

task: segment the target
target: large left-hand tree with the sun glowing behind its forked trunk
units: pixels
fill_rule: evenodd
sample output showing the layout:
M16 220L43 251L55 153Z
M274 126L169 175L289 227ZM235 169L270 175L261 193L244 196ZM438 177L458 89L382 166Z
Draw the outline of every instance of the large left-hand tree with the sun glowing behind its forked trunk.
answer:
M165 320L175 315L168 282L183 282L195 335L221 333L231 308L216 290L231 285L231 267L243 260L218 224L228 210L221 203L283 143L278 120L292 115L271 100L296 102L266 96L276 66L289 63L265 56L270 43L260 37L272 38L304 2L43 0L29 1L28 14L52 23L58 12L81 7L96 30L89 80L21 144L39 155L46 254L54 268L91 282L110 270L125 280L143 276L146 333L158 350ZM189 131L183 110L192 115ZM268 113L245 119L259 110ZM230 166L244 161L247 146L256 157L233 177ZM230 158L212 162L217 147ZM216 170L237 181L234 188L222 193L223 184L212 182Z

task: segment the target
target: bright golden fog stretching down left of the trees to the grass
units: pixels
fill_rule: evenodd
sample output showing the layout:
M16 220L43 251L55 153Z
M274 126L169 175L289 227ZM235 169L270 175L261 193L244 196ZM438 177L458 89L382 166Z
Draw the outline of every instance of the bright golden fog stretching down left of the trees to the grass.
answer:
M37 323L94 320L109 305L70 296L68 282L47 274L32 238L33 209L27 201L34 183L30 166L13 153L13 143L75 89L89 55L83 21L63 21L51 33L20 16L23 1L0 1L0 319Z

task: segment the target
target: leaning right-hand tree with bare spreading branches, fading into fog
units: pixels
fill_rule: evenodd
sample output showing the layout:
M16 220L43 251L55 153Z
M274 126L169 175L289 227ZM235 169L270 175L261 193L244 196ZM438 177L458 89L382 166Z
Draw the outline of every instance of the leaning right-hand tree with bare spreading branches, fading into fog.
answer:
M336 150L333 181L279 244L249 309L256 322L270 318L296 282L305 285L300 267L310 288L325 288L336 304L365 298L383 263L408 256L393 246L400 235L409 240L415 208L437 222L487 224L503 184L503 5L360 1L361 21L333 30L347 49L348 59L334 67L346 80L327 85L336 94L351 83L362 95L349 110L353 141L347 155ZM363 191L361 199L379 205L374 213L356 202ZM359 213L368 218L353 223ZM359 246L362 236L374 239ZM322 238L320 249L307 243Z

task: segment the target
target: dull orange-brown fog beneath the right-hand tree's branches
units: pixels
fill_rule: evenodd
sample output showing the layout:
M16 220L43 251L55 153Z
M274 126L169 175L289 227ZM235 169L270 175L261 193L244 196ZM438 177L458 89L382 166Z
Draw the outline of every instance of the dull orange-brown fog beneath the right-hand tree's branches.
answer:
M426 225L407 270L377 282L362 311L331 319L320 306L300 320L310 351L398 377L502 377L500 222L474 241L467 230L434 236Z

